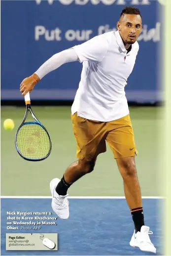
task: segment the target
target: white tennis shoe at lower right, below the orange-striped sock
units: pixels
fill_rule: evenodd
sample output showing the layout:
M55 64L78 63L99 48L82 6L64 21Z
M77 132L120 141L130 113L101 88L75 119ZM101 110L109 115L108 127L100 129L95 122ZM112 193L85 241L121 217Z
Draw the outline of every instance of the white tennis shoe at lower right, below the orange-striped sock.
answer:
M153 234L152 231L149 231L149 227L142 226L140 232L135 233L131 238L130 245L133 247L138 247L143 252L156 253L156 248L151 243L149 234Z

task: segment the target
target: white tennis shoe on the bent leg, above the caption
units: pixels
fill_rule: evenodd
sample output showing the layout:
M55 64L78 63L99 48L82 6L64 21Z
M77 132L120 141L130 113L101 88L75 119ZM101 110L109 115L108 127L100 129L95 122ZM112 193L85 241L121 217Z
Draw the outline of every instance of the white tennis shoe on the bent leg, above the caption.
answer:
M56 192L55 188L61 180L54 178L50 182L50 191L52 194L52 209L61 219L67 219L69 217L69 202L68 194L66 196L60 196Z

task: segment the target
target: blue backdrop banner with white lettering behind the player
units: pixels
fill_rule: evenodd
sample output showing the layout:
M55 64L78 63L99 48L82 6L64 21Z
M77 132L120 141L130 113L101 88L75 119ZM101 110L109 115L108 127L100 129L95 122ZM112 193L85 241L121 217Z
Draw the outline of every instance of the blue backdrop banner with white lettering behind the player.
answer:
M162 99L160 46L162 0L2 0L1 99L23 99L19 86L53 54L114 30L124 6L141 11L136 65L128 79L129 101ZM73 100L82 64L67 63L45 76L32 99Z

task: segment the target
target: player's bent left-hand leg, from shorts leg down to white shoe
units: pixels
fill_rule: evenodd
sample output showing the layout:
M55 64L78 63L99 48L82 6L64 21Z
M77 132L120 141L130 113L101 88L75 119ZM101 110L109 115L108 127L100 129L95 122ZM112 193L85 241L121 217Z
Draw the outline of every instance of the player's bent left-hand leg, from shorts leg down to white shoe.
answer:
M55 178L50 182L52 208L60 218L69 216L68 188L83 175L93 171L97 156L106 151L104 123L78 117L77 113L71 118L78 161L67 168L61 180Z

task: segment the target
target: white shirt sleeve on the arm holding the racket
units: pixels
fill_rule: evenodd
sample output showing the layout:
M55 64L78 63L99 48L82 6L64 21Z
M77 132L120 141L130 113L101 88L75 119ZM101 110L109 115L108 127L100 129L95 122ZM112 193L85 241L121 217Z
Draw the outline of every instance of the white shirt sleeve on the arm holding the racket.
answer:
M72 48L76 51L80 62L88 60L100 62L107 52L108 42L103 35L100 35Z

